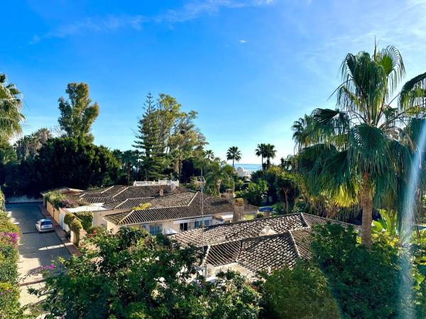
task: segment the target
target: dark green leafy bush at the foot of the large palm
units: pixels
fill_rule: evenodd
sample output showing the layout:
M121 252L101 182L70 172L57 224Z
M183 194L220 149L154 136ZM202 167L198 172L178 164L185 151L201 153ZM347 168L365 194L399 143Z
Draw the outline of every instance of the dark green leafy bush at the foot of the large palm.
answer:
M368 250L352 228L327 224L315 229L312 240L312 258L327 276L343 318L399 318L422 302L415 289L413 299L400 294L400 282L412 279L400 271L404 255L386 236Z

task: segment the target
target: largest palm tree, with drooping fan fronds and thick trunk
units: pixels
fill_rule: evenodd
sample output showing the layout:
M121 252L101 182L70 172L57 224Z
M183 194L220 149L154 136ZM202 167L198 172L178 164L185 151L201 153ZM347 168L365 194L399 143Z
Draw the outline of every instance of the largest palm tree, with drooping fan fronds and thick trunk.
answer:
M425 116L426 73L395 95L405 67L393 46L375 47L372 55L349 53L341 70L342 84L334 91L337 108L312 112L309 139L297 165L316 194L343 206L361 204L361 242L371 247L373 208L403 214L401 190L408 181L412 152L401 138L401 126ZM393 107L395 99L398 105Z

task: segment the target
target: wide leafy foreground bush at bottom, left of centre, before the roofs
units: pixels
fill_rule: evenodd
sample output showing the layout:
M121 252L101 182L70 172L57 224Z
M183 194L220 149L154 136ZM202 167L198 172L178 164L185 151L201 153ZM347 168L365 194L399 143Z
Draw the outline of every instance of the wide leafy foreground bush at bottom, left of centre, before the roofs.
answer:
M217 284L204 281L192 248L170 250L167 239L133 228L87 240L81 257L62 260L63 271L46 273L45 286L33 291L46 296L46 318L257 317L260 298L244 278L227 273Z

